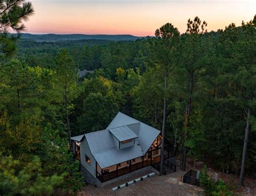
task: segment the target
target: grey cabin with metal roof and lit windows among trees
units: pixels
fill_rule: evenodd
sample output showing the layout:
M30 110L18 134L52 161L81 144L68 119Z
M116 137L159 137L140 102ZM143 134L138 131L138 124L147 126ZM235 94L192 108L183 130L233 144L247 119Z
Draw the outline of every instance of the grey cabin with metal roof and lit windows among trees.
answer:
M100 186L100 183L147 166L158 165L159 168L160 131L121 112L105 130L71 139L80 169L91 184ZM170 143L165 145L164 156L165 159L174 156Z

